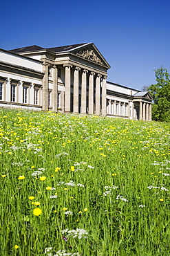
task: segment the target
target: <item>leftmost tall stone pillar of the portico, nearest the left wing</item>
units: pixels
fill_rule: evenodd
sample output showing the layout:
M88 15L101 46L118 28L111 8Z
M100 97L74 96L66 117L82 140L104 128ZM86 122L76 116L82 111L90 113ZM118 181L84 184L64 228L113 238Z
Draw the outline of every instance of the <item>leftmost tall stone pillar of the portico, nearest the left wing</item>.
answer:
M43 62L43 91L42 91L42 110L48 110L48 68L49 64Z

